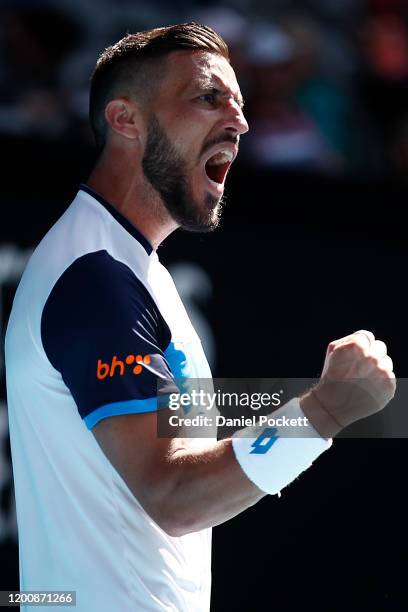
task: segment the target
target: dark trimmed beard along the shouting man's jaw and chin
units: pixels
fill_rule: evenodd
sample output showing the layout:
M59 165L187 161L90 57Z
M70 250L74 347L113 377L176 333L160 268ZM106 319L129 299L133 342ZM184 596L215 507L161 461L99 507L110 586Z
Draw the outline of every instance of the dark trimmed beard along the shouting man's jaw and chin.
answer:
M218 227L223 198L207 193L201 205L194 199L187 181L188 165L154 116L148 126L142 168L180 227L190 232L211 232Z

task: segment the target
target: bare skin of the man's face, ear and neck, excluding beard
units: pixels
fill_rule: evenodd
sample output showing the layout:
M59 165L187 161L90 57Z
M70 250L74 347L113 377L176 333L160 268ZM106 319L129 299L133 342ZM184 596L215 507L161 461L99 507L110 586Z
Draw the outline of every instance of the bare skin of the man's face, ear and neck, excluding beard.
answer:
M130 97L107 105L107 145L88 181L154 248L177 227L205 230L216 226L222 193L209 185L203 160L216 144L237 147L241 134L248 130L235 73L225 58L177 51L165 61L165 76L147 106ZM221 93L214 96L213 88ZM201 227L189 227L175 218L145 174L152 123L164 131L173 161L182 161L179 170L184 174L189 208L195 210Z

